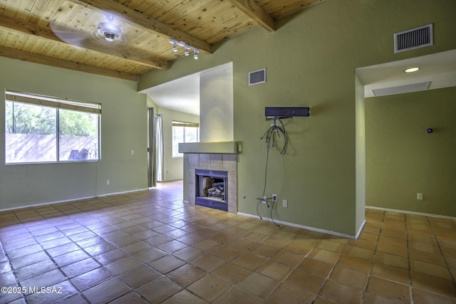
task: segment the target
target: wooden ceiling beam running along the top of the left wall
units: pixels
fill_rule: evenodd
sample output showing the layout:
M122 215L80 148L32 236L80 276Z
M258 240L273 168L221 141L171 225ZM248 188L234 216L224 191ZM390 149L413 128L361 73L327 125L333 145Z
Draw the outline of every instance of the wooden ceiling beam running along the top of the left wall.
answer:
M93 65L86 65L84 63L76 63L74 61L66 61L58 58L51 58L35 53L26 51L19 51L14 48L6 48L0 46L0 56L11 59L19 59L21 61L28 61L33 63L40 63L43 65L58 66L59 68L66 68L68 70L78 70L79 72L92 73L96 75L103 75L113 78L120 78L125 80L138 81L138 75L131 73L123 73L117 70L108 70L106 68L98 68Z

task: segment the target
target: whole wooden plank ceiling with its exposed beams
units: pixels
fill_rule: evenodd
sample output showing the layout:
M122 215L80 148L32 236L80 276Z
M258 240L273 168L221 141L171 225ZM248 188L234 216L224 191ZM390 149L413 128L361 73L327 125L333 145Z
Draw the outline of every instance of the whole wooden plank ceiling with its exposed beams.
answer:
M257 26L275 31L276 19L320 1L1 0L0 56L136 81L185 56L170 39L210 56L214 43ZM126 41L95 38L102 22Z

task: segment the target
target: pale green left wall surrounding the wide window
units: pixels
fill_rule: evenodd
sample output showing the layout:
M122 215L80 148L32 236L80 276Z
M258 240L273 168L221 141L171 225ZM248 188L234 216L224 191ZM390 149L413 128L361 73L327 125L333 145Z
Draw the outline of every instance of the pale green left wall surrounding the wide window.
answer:
M5 165L2 160L0 209L147 188L147 105L137 83L6 58L0 58L0 67L0 159L5 159L6 89L102 104L101 162Z

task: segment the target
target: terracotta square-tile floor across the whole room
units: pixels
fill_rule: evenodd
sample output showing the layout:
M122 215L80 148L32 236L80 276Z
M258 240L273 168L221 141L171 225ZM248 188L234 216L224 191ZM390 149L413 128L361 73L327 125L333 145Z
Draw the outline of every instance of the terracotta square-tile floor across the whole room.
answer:
M0 212L0 303L456 303L455 221L368 209L350 240L181 189Z

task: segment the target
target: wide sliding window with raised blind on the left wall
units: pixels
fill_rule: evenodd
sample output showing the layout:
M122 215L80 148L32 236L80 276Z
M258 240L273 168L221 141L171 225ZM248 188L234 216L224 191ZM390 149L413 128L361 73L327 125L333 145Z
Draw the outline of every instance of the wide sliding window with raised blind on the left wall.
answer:
M100 160L101 106L8 91L6 164Z

